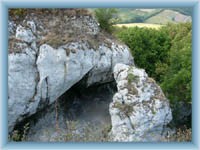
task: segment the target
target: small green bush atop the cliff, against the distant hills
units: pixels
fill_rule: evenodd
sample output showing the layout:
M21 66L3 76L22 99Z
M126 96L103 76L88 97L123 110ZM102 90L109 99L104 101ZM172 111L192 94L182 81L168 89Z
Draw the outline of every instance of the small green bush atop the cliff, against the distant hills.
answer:
M116 23L116 14L117 10L115 8L98 8L95 9L95 17L97 21L100 23L100 28L107 31L112 32L113 27Z

